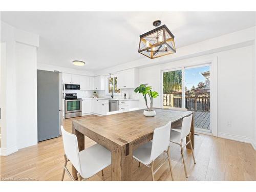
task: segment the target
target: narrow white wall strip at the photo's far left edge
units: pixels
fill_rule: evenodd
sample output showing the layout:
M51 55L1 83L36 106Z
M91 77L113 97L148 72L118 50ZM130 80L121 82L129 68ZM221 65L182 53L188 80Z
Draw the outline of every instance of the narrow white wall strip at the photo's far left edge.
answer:
M14 28L1 22L1 155L17 151L16 139L16 65L15 65ZM8 88L8 89L7 89Z

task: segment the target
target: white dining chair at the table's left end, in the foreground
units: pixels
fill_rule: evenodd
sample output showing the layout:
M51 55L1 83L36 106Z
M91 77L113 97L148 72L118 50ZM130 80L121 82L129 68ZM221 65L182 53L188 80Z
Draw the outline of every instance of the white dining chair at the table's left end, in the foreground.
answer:
M111 152L99 144L79 152L77 137L65 131L63 126L61 126L61 132L65 151L65 165L61 181L64 179L65 172L68 173L73 181L75 180L67 168L68 161L76 168L79 181L92 177L100 170L103 175L103 169L111 164Z

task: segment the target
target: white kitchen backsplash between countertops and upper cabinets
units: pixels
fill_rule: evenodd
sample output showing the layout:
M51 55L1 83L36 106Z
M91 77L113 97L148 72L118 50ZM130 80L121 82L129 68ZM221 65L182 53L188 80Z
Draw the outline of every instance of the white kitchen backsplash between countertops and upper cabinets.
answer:
M66 93L77 93L78 98L92 98L94 91L83 91L83 90L66 90ZM106 95L105 90L97 91L99 98L109 98L110 95ZM121 95L114 95L114 98L123 98L123 94L128 93L129 99L139 99L139 94L134 92L132 89L121 89Z

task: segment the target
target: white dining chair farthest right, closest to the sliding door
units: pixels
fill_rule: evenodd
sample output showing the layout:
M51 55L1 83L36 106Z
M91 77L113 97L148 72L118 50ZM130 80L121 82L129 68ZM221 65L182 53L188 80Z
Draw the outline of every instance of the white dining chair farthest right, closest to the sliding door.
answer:
M187 169L186 169L186 164L185 164L185 159L184 159L183 148L185 146L187 146L188 144L190 144L191 152L192 152L192 155L193 155L193 160L194 160L194 163L196 164L194 150L193 150L192 143L191 143L191 133L190 133L190 126L191 126L192 118L193 118L193 114L191 114L188 117L183 118L180 131L178 131L178 130L171 130L170 131L170 142L180 145L181 156L182 156L182 161L183 161L186 177L187 177ZM188 138L188 142L184 146L182 146L183 145L182 144L183 140L185 138Z

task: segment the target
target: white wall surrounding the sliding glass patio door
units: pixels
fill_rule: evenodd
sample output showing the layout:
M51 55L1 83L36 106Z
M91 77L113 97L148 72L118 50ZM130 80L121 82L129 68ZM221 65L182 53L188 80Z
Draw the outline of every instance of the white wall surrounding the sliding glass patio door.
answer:
M218 57L218 136L250 142L254 134L252 95L253 46L232 49L215 54L194 57L153 67L141 68L140 83L149 83L161 93L161 70L176 68L186 63ZM154 106L161 108L161 98L154 99ZM140 108L144 108L140 96ZM227 126L227 121L231 126Z

